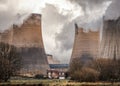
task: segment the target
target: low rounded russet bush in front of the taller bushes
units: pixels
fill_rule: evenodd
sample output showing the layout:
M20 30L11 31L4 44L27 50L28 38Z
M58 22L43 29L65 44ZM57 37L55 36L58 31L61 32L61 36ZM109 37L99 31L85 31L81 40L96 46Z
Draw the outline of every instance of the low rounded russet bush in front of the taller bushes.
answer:
M72 74L71 79L80 82L95 82L98 80L98 77L98 71L83 67L80 71L75 71L74 74Z

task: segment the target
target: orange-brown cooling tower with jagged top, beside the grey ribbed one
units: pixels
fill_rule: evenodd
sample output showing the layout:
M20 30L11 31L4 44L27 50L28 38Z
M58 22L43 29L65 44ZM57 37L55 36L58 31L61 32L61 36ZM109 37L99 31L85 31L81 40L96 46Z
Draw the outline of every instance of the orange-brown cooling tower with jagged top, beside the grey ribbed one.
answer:
M96 58L99 48L99 32L85 32L75 24L75 39L70 62L74 58L83 60Z

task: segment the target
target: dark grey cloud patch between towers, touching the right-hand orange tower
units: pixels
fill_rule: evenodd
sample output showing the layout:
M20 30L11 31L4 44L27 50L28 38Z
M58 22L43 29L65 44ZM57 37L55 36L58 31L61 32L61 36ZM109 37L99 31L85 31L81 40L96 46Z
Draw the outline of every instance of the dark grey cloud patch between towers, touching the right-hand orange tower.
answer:
M74 40L74 22L65 23L60 33L56 33L57 48L67 51L72 48Z

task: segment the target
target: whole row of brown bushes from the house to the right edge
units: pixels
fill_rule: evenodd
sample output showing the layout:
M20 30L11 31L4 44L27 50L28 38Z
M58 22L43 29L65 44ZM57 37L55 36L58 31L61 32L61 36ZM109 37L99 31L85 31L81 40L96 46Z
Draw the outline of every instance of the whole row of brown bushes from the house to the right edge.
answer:
M69 75L72 80L80 82L120 81L120 60L97 58L83 62L82 58L74 58Z

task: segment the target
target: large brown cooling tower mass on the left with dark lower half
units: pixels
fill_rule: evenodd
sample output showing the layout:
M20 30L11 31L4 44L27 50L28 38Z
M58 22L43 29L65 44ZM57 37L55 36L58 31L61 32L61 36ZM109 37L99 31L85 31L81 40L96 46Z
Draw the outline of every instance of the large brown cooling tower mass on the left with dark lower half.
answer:
M46 73L49 66L42 40L40 14L30 15L21 26L13 25L10 31L1 34L1 41L17 47L22 56L21 74Z

